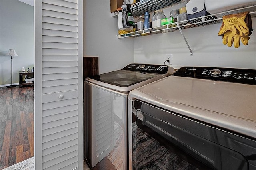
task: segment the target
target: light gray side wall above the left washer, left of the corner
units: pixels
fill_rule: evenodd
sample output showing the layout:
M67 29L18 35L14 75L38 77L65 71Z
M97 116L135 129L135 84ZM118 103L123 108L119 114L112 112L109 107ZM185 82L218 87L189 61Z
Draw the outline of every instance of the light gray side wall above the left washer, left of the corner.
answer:
M109 0L84 0L84 56L99 57L99 73L122 69L134 62L133 38L118 39L117 17Z

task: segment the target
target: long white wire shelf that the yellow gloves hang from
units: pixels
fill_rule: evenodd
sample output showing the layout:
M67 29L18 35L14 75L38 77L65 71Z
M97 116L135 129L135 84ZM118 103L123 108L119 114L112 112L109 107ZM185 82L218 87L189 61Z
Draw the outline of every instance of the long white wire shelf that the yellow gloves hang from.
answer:
M222 22L222 17L225 15L237 14L239 12L245 12L245 11L250 11L252 18L256 17L256 5L253 5L253 6L247 6L244 8L229 10L226 12L220 12L217 14L193 18L190 20L175 22L173 24L158 26L158 27L154 27L154 28L148 28L146 30L129 32L127 34L120 34L120 35L118 35L118 38L139 37L139 36L146 36L146 35L152 35L152 34L174 32L176 30L179 30L179 28L188 29L188 28L206 26L206 25L210 25L210 24L217 24L217 23Z

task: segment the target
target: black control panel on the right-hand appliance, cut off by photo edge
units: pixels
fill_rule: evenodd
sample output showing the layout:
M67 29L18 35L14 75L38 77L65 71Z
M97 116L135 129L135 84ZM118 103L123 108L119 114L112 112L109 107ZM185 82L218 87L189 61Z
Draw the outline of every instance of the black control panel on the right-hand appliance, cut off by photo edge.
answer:
M256 85L254 69L181 67L173 75Z

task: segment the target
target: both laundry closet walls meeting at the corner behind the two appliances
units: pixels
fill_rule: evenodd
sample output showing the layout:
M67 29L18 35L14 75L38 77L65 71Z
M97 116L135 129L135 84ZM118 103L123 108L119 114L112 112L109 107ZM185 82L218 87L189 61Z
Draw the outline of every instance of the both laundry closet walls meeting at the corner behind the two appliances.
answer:
M183 30L193 51L190 56L179 31L117 39L117 17L110 16L109 0L85 0L84 5L84 56L99 56L100 73L131 62L163 64L168 54L172 54L174 68L192 65L256 69L256 18L252 19L254 31L249 44L240 43L237 49L222 44L218 36L221 24ZM184 5L166 8L164 14L169 17L172 9Z

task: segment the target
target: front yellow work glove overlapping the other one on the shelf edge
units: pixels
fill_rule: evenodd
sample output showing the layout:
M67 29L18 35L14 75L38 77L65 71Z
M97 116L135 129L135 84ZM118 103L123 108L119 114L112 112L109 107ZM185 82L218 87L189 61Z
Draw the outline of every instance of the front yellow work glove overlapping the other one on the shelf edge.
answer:
M227 31L231 31L233 35L238 34L240 37L248 36L249 28L244 19L249 12L241 12L238 14L230 14L223 16L223 27L220 29L218 35L222 35ZM230 34L230 33L228 33Z

